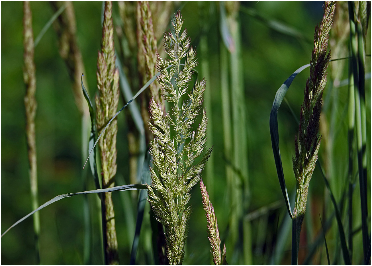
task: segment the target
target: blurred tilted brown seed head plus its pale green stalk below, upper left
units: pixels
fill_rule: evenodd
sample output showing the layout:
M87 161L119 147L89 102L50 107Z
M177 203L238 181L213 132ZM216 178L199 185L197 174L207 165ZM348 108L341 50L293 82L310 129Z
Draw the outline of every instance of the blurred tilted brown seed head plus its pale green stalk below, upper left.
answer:
M76 106L81 115L81 156L82 160L88 156L88 142L90 135L90 115L87 102L81 90L80 77L84 73L84 63L80 49L76 41L76 19L74 7L71 1L51 1L52 9L56 12L65 6L65 11L58 16L54 23L58 35L59 52L67 66L68 74L73 82L73 93ZM87 84L87 83L85 83ZM87 190L89 180L87 172L82 171L84 190ZM99 189L99 187L96 187ZM99 201L99 198L96 198ZM90 208L88 196L84 195L84 263L91 263L90 252L92 249L92 230L90 221Z

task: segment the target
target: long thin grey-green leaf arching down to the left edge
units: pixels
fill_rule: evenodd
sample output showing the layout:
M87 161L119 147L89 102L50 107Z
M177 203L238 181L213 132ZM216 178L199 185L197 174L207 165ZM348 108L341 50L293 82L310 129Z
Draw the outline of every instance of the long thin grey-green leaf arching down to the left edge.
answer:
M3 237L11 228L15 227L20 222L23 222L25 219L27 219L28 217L30 217L35 212L40 211L41 209L45 208L46 206L51 205L52 203L54 203L56 201L59 201L61 199L69 198L69 197L75 196L75 195L82 195L82 194L106 193L106 192L112 192L112 191L124 191L124 190L136 190L136 189L142 189L142 190L144 189L144 190L146 190L147 187L146 187L146 185L143 185L143 184L133 184L133 185L115 186L113 188L104 188L104 189L88 190L88 191L83 191L83 192L67 193L67 194L62 194L62 195L55 196L50 201L45 202L43 205L39 206L39 208L33 210L32 212L30 212L25 217L23 217L23 218L19 219L18 221L16 221L3 234L1 234L1 237Z

